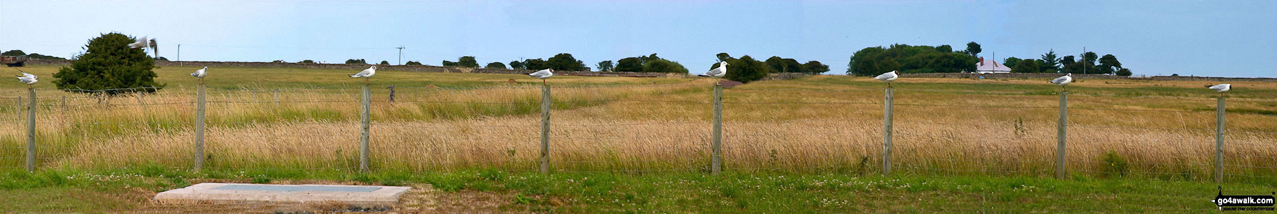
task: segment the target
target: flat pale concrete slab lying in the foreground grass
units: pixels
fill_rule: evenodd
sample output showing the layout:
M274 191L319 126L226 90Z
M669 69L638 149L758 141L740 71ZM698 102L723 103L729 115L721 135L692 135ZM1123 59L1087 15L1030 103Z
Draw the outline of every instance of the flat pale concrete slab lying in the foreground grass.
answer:
M392 206L406 186L199 183L156 194L160 203L341 203Z

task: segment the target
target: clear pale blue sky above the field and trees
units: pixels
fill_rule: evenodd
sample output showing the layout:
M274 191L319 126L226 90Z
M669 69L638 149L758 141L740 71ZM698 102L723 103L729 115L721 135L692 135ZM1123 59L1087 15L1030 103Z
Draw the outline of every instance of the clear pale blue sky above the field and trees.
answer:
M587 66L658 54L692 73L715 54L792 57L843 74L871 46L983 46L985 57L1082 48L1137 75L1277 78L1277 1L10 1L0 50L69 57L105 32L149 36L185 61L439 65L548 59ZM1001 60L1000 60L1001 61Z

